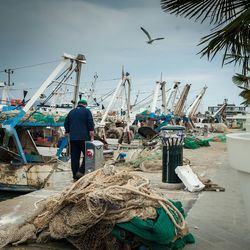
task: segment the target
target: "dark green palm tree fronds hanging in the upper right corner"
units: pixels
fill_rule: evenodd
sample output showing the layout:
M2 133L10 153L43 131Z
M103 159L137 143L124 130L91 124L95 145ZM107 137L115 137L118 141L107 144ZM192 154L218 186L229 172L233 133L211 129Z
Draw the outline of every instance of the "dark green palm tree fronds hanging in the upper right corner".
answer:
M233 76L242 92L244 104L250 104L250 1L249 0L161 0L165 12L189 19L205 20L212 25L211 33L201 38L199 52L212 60L223 52L222 65L235 63L241 73Z

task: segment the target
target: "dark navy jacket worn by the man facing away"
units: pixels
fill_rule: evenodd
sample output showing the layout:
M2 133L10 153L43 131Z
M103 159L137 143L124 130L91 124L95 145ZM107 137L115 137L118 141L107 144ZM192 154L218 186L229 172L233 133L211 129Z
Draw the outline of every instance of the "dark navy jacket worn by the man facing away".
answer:
M89 109L77 106L72 109L64 122L65 132L69 133L70 141L89 141L89 131L94 131L94 121Z

